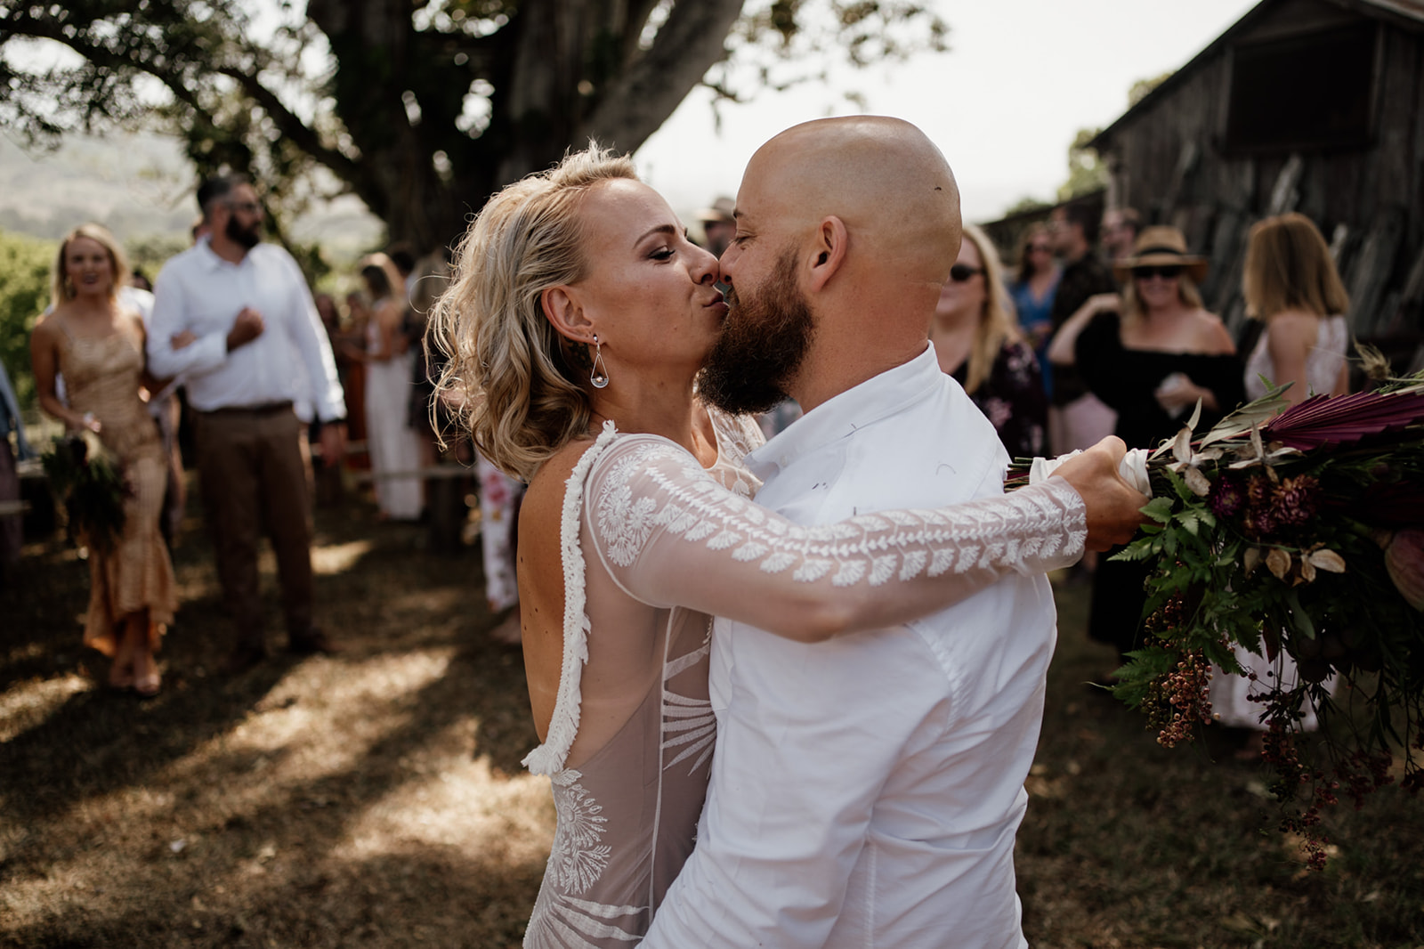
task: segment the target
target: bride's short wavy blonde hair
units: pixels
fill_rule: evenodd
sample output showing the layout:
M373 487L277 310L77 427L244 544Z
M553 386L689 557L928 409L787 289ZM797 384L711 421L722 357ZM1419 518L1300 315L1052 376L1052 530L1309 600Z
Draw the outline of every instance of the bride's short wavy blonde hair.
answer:
M590 188L615 178L637 181L632 161L591 141L496 194L456 248L450 288L430 313L427 352L447 358L436 398L481 455L525 482L588 432L582 343L554 331L540 298L588 274L580 207Z

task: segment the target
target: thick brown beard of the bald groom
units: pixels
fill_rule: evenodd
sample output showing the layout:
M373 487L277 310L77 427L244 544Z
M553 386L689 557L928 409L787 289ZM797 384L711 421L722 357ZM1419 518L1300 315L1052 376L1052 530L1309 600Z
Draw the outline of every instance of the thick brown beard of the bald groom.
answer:
M782 254L770 278L748 296L732 286L726 298L726 321L698 373L698 395L733 415L766 412L786 398L816 329L796 288L796 252Z

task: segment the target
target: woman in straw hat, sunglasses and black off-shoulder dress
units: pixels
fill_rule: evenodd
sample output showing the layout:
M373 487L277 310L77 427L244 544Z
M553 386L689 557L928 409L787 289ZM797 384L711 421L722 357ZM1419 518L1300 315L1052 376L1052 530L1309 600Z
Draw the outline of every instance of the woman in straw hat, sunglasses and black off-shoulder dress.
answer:
M1122 295L1089 298L1058 331L1048 358L1078 366L1088 389L1118 412L1118 437L1128 447L1155 447L1198 400L1206 425L1235 409L1245 396L1242 363L1226 326L1202 308L1196 284L1206 261L1188 254L1182 232L1145 228L1114 271ZM1089 636L1119 653L1135 648L1145 579L1138 563L1099 564Z

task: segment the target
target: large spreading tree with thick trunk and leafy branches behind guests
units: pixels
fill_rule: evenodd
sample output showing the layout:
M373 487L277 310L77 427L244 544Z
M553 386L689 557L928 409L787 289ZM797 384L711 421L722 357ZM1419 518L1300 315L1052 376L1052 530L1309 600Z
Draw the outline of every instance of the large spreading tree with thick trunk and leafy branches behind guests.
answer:
M565 6L0 0L0 124L44 144L157 123L199 175L252 175L278 239L312 197L353 192L393 241L427 249L570 147L637 150L699 84L740 101L822 78L830 57L944 50L948 33L913 0ZM56 47L67 56L33 66Z

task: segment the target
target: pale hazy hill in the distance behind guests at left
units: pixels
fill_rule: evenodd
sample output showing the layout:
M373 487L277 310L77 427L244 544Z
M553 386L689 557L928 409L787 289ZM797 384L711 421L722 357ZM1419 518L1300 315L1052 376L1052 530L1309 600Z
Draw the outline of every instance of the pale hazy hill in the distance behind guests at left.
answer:
M187 235L197 215L192 165L161 135L71 137L53 152L27 152L0 135L0 231L60 238L98 221L120 241ZM355 197L323 204L292 225L333 258L376 247L383 227Z

